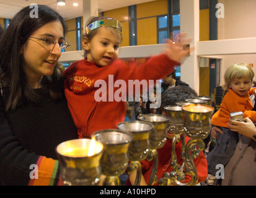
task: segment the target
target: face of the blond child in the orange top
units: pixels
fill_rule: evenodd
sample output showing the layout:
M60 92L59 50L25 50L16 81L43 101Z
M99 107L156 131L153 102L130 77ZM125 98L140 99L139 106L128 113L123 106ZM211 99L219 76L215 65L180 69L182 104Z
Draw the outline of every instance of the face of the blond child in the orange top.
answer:
M252 81L249 79L234 79L229 85L229 88L232 88L232 90L241 97L247 95L251 87Z

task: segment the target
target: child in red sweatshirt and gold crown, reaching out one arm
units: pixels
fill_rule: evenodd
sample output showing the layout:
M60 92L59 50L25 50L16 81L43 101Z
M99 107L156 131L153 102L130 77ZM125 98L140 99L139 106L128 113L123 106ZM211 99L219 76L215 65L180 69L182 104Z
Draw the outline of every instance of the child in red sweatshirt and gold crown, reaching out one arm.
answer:
M181 34L180 43L169 40L165 53L143 64L126 64L118 59L123 32L118 20L92 17L85 29L82 46L86 58L74 62L63 72L65 95L80 138L90 137L92 132L101 129L117 128L117 124L125 120L126 101L123 100L129 94L122 95L123 100L115 98L114 93L120 93L120 87L112 85L109 88L111 80L113 84L119 80L128 85L128 80L162 79L187 56L190 49L183 49L183 45L191 41ZM105 88L99 82L105 84Z

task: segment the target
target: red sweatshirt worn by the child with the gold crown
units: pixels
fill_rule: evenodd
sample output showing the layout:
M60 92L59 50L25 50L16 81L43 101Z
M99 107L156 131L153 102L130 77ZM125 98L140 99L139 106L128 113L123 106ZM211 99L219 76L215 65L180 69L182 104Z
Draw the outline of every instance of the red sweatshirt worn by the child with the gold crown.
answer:
M65 95L79 137L90 137L90 134L101 129L117 128L117 124L125 120L126 93L118 92L123 85L108 87L112 84L109 82L109 75L113 75L114 85L115 82L124 80L128 87L128 80L163 79L173 72L174 66L178 64L169 59L166 54L154 56L141 65L125 64L121 59L117 59L106 67L97 66L86 59L74 62L63 72L63 75L67 78L64 82ZM106 86L95 87L97 80L106 82ZM99 94L100 92L102 94ZM117 95L113 96L113 94L117 93L123 97L123 101L115 100ZM97 95L107 98L107 101L96 101ZM109 97L110 100L108 100Z

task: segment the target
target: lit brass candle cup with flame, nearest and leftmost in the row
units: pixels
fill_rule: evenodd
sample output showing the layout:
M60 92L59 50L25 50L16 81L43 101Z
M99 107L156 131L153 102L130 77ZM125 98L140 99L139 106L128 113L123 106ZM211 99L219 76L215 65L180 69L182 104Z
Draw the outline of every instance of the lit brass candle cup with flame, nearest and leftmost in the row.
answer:
M102 143L95 141L94 154L88 156L90 139L74 139L56 147L61 178L66 186L96 186L100 182Z

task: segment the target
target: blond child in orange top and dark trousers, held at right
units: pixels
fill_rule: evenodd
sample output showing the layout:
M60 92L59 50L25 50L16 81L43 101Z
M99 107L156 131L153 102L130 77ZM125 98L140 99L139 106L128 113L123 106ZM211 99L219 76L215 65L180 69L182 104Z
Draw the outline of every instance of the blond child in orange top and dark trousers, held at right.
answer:
M232 157L236 144L239 141L239 134L231 131L228 127L230 113L241 111L244 118L248 117L256 122L256 111L252 111L254 106L250 101L250 95L255 94L254 71L247 64L233 64L227 69L224 75L224 90L228 90L223 98L219 110L213 114L211 124L218 126L222 134L218 134L217 144L207 155L208 179L202 185L215 185L216 165L226 166ZM232 101L232 102L231 102Z

